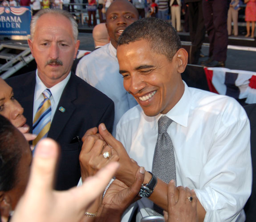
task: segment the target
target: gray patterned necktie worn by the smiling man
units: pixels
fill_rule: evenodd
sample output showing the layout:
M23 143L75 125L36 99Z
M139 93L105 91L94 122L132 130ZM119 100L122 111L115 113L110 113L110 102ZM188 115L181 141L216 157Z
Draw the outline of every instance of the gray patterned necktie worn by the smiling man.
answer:
M172 120L162 116L158 120L158 137L154 149L152 173L163 182L169 183L172 179L176 186L175 157L171 137L167 129ZM154 215L163 215L163 209L154 204Z

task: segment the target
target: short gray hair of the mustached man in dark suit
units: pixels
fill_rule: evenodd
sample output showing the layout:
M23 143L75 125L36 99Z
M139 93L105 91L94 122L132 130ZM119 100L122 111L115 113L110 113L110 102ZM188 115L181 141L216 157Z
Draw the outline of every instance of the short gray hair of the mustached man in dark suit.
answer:
M36 24L37 24L37 20L45 14L54 14L54 15L62 15L65 16L67 19L69 19L69 21L71 22L72 25L72 29L73 29L73 36L74 39L77 40L77 36L78 36L78 25L76 20L73 18L73 16L65 11L65 10L61 10L58 8L54 8L54 9L50 9L50 8L44 8L41 9L39 12L37 12L36 15L33 16L31 23L30 23L30 35L31 35L31 39L33 40L34 34L35 34L35 29L36 29Z

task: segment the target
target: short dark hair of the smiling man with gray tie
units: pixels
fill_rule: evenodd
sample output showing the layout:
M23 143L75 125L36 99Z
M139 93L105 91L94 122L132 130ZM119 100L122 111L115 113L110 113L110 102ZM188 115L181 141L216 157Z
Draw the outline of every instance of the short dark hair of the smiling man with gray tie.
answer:
M158 18L144 18L130 24L118 39L118 45L147 40L154 52L163 54L171 61L181 48L175 28Z

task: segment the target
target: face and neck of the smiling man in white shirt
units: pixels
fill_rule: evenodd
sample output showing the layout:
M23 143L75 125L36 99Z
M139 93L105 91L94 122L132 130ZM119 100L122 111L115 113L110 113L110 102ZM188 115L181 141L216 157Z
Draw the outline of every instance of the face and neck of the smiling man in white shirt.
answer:
M117 57L124 87L146 115L166 114L183 95L179 59L170 61L165 55L152 51L147 40L118 45Z

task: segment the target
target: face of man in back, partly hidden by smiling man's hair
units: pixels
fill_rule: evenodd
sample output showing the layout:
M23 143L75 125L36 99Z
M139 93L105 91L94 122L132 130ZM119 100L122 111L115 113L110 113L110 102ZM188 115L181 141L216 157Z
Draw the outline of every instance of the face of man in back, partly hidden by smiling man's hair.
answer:
M127 26L138 20L138 11L127 0L115 0L106 13L106 27L110 42L117 48L118 38Z

